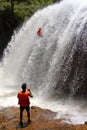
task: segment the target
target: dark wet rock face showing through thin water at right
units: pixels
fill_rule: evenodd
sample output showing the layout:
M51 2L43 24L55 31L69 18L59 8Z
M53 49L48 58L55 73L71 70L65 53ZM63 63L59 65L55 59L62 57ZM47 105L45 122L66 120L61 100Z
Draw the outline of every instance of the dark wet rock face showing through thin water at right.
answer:
M80 26L80 25L79 25ZM56 85L56 93L60 96L87 98L87 24L81 32L74 34L66 45L61 59L60 76Z

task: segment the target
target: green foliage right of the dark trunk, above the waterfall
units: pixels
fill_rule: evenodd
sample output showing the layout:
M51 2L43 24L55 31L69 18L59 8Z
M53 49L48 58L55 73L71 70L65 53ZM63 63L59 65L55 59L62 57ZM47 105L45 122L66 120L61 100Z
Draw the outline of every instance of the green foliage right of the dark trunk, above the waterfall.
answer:
M21 16L22 20L29 18L35 11L52 4L52 0L25 0L23 2L16 1L14 13Z

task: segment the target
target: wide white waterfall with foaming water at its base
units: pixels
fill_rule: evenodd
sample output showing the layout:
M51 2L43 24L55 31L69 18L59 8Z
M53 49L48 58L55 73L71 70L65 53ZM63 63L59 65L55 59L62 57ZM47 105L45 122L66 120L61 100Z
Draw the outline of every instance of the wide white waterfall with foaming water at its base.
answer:
M39 27L43 37L37 36ZM17 105L17 91L26 82L32 105L51 108L69 123L84 123L86 28L87 1L64 0L37 11L15 31L0 63L1 107Z

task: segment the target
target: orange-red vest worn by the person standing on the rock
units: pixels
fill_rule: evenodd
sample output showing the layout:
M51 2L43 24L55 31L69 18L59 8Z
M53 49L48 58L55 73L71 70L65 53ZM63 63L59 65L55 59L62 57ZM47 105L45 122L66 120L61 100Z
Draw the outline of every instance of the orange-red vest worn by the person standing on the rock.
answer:
M30 101L29 101L29 92L28 91L26 91L26 92L19 91L18 98L19 98L18 104L20 106L29 106Z

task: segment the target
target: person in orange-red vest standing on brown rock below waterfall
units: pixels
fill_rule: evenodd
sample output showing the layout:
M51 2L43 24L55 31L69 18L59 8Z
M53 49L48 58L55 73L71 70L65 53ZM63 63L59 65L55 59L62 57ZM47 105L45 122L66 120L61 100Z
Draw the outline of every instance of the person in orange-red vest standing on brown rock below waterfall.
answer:
M22 86L22 91L19 91L17 94L18 97L18 104L20 105L20 125L23 125L23 111L27 111L27 116L28 116L28 123L30 122L30 101L29 97L33 97L30 89L27 89L27 84L23 83Z

